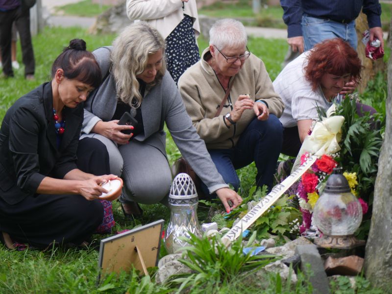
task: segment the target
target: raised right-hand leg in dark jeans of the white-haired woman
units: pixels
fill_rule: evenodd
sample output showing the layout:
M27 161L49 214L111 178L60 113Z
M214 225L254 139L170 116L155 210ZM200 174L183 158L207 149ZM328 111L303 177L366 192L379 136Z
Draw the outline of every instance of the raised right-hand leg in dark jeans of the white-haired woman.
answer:
M270 191L282 142L283 126L276 116L271 114L267 121L254 118L235 147L234 167L240 169L254 161L256 185L267 185Z

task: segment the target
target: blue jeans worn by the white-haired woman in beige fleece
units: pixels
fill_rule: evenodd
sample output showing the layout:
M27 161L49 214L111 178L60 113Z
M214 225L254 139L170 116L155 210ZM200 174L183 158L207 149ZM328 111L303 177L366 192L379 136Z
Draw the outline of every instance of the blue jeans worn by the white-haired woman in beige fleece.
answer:
M227 184L238 191L240 179L236 170L255 162L257 174L256 185L267 185L272 189L273 174L283 142L283 126L273 114L267 121L255 117L240 136L237 145L229 149L208 149L212 161ZM209 195L202 183L201 189Z

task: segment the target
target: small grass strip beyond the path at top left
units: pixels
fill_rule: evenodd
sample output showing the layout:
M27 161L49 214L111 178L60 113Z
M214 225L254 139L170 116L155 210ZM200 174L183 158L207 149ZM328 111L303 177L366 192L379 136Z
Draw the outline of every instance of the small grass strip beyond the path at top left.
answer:
M112 5L100 6L98 3L93 3L92 0L83 0L63 6L56 6L55 11L57 14L61 15L65 14L73 16L95 17L110 7L112 7Z

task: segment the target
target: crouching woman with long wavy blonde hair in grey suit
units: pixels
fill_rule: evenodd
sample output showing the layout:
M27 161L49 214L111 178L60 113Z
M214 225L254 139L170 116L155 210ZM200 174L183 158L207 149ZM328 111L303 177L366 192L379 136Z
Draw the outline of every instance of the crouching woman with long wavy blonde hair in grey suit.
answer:
M135 216L141 213L137 203L165 202L169 195L172 173L165 150L166 123L184 158L230 211L242 199L225 184L197 135L166 70L164 49L159 32L138 22L127 26L113 47L93 52L105 77L85 103L81 138L93 137L105 144L111 172L124 181L120 197L124 214ZM137 126L118 124L125 112Z

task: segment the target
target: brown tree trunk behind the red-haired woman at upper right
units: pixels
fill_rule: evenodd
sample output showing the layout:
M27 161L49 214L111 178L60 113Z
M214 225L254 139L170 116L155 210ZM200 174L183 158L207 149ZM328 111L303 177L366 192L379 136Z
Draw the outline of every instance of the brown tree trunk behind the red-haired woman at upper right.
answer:
M368 20L364 13L360 13L358 18L355 20L355 26L358 36L358 56L361 59L362 65L365 67L362 71L362 80L358 86L358 92L363 93L368 85L368 81L373 79L374 75L379 71L385 70L385 63L382 58L375 61L365 56L365 45L362 43L362 34L365 30L369 29Z

